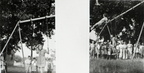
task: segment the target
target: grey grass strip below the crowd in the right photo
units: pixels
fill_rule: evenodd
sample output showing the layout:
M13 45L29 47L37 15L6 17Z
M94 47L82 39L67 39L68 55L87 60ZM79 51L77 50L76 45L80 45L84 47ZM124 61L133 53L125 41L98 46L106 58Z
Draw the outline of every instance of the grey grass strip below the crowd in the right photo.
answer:
M90 59L90 73L144 73L144 60Z

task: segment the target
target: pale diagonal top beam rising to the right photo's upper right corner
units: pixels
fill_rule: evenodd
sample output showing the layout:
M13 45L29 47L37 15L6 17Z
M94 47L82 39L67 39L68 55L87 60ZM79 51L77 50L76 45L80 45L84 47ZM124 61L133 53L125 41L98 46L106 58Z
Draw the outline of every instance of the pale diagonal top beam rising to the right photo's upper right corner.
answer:
M110 22L112 22L113 20L119 18L120 16L126 14L127 12L131 11L132 9L134 9L134 8L136 8L137 6L141 5L142 3L144 3L144 1L138 3L137 5L133 6L132 8L126 10L125 12L121 13L120 15L118 15L118 16L114 17L113 19L111 19L110 21L108 21L108 22L104 25L104 27L102 28L102 30L100 31L99 35L102 33L102 31L104 30L105 26L106 26L108 23L110 23ZM93 28L94 28L94 27L93 27ZM92 30L93 30L93 29L92 29Z

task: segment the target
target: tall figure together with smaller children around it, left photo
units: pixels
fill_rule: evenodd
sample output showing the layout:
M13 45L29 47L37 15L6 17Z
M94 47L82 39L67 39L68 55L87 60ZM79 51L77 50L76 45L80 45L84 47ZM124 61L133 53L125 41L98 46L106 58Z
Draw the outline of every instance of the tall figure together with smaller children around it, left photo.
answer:
M25 60L25 69L27 73L52 73L53 62L52 58L45 57L45 54L48 54L48 51L43 49L43 45L39 45L40 47L37 49L37 53L39 56L37 58L31 58L30 56Z

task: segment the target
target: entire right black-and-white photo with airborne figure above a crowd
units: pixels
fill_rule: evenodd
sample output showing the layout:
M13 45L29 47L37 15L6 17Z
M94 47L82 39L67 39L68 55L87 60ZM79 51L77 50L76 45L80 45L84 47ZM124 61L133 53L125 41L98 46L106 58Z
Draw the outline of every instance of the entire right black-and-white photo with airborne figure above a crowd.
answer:
M144 1L90 0L89 72L144 73Z

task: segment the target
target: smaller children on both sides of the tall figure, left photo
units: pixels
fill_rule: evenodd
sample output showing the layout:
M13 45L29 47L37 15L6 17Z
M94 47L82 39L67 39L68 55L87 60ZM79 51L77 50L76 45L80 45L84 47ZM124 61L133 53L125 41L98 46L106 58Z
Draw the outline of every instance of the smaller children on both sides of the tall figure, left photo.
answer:
M53 63L51 59L46 59L46 63L43 66L42 72L41 72L41 68L39 68L40 66L38 65L37 61L38 60L36 58L33 58L31 60L30 56L25 60L26 73L44 73L44 72L52 73Z

